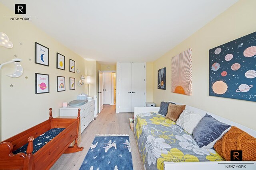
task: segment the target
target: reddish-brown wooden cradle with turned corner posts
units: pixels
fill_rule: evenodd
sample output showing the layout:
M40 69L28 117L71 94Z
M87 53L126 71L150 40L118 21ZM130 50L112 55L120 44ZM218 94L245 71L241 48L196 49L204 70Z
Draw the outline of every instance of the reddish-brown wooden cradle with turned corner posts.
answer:
M83 147L80 148L77 145L79 122L80 109L78 109L78 117L76 119L67 119L53 118L52 108L50 108L50 117L48 120L0 143L0 169L50 169L63 153L73 153L83 150ZM54 128L65 129L62 129L56 137L46 142L42 148L34 153L34 139ZM74 146L69 147L73 141L75 141ZM24 145L26 146L26 144L26 154L23 152L13 154L15 150L22 148ZM41 143L38 145L41 145Z

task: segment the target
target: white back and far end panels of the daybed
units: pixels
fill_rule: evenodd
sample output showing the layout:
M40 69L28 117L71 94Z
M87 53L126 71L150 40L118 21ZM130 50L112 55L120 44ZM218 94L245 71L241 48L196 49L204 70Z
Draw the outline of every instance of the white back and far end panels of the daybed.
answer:
M174 102L174 103L176 103L178 105L182 105L181 103L177 103L177 102ZM158 112L159 109L160 109L160 107L134 107L134 117L136 117L136 115L138 115L140 113ZM218 115L215 115L215 114L210 113L208 111L204 111L204 110L198 109L196 107L192 107L192 106L186 105L186 109L194 111L196 113L199 113L202 116L204 116L207 113L208 115L211 115L212 117L214 117L218 121L221 121L221 122L226 123L228 125L236 126L236 127L240 128L240 129L242 129L243 131L249 133L253 137L256 137L256 131L254 131L253 129L250 129L248 127L245 127L244 125L240 125L240 124L238 124L238 123L236 123L234 121L231 121L229 119L226 119L226 118L218 116Z

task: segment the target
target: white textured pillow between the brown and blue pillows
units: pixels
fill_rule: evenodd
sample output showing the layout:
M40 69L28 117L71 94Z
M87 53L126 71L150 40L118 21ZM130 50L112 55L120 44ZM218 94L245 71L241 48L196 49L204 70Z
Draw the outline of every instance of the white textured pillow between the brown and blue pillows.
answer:
M180 114L180 117L176 121L176 124L182 127L182 129L184 129L188 133L192 134L194 128L202 118L203 117L200 114L185 109Z

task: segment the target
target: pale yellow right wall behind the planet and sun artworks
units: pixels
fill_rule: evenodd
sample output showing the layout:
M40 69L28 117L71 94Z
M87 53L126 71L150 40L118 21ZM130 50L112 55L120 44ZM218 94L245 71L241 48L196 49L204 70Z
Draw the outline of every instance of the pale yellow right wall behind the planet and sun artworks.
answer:
M256 31L255 0L240 0L228 10L210 21L188 39L174 47L153 63L153 82L157 82L157 70L166 67L166 90L158 90L153 84L153 100L188 104L228 118L256 130L255 102L209 96L208 50ZM171 58L192 48L193 85L192 96L171 92Z

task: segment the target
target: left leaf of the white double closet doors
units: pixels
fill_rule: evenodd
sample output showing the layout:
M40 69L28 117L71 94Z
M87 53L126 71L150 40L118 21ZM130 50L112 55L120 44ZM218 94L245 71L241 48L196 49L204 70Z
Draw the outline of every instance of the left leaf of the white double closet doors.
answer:
M132 63L119 63L119 112L132 112Z

